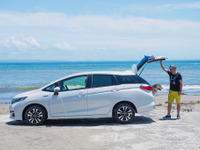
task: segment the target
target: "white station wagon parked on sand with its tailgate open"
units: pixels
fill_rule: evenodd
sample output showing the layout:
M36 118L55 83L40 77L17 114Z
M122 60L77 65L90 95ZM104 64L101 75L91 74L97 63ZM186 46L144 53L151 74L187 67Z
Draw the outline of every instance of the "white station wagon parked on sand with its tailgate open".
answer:
M135 113L154 109L152 86L137 71L148 62L165 59L145 56L132 71L74 74L19 94L12 100L10 118L30 125L47 119L107 117L130 123Z

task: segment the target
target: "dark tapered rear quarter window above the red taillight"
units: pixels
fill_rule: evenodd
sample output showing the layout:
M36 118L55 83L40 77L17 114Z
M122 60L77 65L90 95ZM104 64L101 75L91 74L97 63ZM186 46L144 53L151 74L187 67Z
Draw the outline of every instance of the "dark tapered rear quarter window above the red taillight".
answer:
M137 84L137 83L143 83L148 84L147 81L142 79L138 75L122 75L122 76L116 76L119 84Z

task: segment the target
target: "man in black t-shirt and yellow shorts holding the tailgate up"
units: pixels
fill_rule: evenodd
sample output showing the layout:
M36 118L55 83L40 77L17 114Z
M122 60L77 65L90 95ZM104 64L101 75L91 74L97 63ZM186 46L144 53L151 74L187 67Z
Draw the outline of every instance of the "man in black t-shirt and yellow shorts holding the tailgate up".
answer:
M168 111L167 115L163 118L171 118L171 109L172 109L172 103L174 102L174 99L176 99L177 104L177 119L180 119L180 110L181 110L181 91L183 87L182 82L182 76L179 72L176 72L176 66L170 65L169 70L165 69L165 67L162 64L162 61L160 61L160 65L162 69L168 73L169 80L170 80L170 90L168 95Z

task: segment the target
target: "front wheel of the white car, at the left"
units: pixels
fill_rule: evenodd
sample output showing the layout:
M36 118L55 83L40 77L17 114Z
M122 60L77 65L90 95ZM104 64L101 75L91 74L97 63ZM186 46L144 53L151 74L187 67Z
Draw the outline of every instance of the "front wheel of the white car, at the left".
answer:
M47 119L47 113L43 107L34 105L26 109L24 118L29 125L42 125Z

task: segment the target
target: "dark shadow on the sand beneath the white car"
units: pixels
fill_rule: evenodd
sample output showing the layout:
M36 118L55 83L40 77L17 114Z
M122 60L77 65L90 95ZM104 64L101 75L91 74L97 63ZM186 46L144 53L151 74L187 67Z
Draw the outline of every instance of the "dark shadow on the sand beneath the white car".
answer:
M136 116L134 121L130 124L123 125L137 125L137 124L151 124L155 122L153 119L145 116ZM9 121L6 123L11 126L29 126L25 121ZM53 126L69 126L69 127L78 127L78 126L118 126L122 125L117 123L112 118L101 118L101 119L57 119L57 120L47 120L45 125L46 127Z

